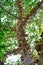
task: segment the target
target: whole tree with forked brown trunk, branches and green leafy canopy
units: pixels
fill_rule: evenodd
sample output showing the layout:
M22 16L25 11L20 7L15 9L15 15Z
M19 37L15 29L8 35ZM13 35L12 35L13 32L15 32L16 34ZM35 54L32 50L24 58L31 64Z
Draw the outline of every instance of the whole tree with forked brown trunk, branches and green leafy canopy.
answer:
M30 49L32 52L35 49L31 44L35 46L35 41L40 40L43 32L42 4L43 1L39 0L0 0L0 60L3 55L20 53L24 64L28 65L27 58L29 61L32 55ZM29 36L32 32L34 34Z

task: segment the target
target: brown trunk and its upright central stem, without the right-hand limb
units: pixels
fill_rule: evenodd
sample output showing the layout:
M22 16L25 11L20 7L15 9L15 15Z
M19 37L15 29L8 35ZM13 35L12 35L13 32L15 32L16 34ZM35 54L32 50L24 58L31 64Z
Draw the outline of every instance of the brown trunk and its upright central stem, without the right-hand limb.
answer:
M19 46L22 47L23 49L23 57L24 60L27 58L27 56L29 55L28 53L28 49L29 49L29 45L27 44L27 40L25 38L25 30L24 30L24 26L23 26L23 18L22 18L22 13L23 13L23 8L21 6L21 0L17 0L17 6L19 9L19 21L17 23L17 39L19 42Z

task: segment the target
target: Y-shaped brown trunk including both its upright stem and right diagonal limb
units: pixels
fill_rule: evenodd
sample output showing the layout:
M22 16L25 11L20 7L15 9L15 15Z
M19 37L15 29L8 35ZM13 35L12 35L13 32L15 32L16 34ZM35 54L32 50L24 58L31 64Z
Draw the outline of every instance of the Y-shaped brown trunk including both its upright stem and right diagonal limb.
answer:
M23 8L21 6L21 1L22 0L17 0L17 2L16 2L16 5L17 5L17 7L19 9L18 17L20 18L18 20L18 23L17 23L17 31L16 31L16 33L17 33L17 40L19 42L19 45L23 49L22 53L23 53L23 57L24 57L24 60L25 60L27 57L29 58L29 52L28 52L29 45L27 44L27 40L26 40L25 36L23 36L23 34L25 34L24 26L26 26L26 23L27 23L28 19L31 19L32 16L35 16L36 11L39 9L42 2L38 2L37 5L31 10L29 15L27 15L26 18L24 18L24 20L23 20L23 16L22 16L23 15ZM30 61L30 64L31 64L31 61ZM24 65L28 65L28 64L26 62L24 62Z

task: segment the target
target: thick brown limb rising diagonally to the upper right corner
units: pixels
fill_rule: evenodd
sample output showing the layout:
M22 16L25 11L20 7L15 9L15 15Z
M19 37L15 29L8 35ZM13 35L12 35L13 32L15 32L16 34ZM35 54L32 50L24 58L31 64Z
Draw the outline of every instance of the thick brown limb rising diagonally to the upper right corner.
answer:
M26 16L26 18L24 18L24 26L26 25L27 21L36 15L37 10L41 7L41 5L43 4L43 1L38 2L37 5L30 11L30 13Z

